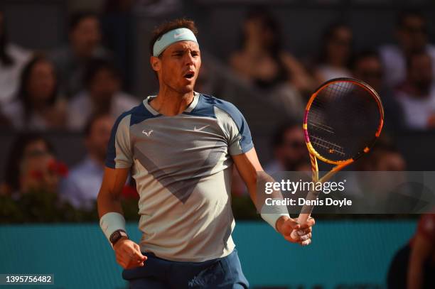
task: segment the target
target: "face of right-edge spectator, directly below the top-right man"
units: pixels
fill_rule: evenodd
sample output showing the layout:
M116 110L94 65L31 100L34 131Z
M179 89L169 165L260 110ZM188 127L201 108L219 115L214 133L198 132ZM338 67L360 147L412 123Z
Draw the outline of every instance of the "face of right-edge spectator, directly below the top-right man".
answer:
M432 60L429 55L416 55L409 67L409 80L423 92L429 92L433 80Z

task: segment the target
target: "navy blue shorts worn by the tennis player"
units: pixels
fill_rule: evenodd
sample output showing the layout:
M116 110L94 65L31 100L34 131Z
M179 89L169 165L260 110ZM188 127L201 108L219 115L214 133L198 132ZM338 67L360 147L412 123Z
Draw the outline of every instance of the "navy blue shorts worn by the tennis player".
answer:
M148 257L145 266L122 272L131 289L249 287L236 250L226 257L198 263L168 261L153 253L144 255Z

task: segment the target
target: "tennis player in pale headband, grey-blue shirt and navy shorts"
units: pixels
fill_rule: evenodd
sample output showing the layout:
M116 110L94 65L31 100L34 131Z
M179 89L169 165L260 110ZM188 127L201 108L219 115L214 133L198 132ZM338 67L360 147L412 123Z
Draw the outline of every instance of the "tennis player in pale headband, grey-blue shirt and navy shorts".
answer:
M240 111L194 92L201 66L196 35L195 23L185 19L156 28L150 48L159 93L119 116L109 141L100 226L131 288L248 287L231 237L232 163L252 200L262 166ZM140 195L140 244L129 240L119 201L131 168ZM311 242L313 219L262 217L286 240ZM297 239L290 236L294 229L301 232Z

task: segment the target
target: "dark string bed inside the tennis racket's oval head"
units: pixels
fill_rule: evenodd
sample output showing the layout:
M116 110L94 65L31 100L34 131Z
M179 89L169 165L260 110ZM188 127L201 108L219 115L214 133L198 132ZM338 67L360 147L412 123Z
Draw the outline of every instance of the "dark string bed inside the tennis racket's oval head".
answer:
M332 82L313 99L307 129L313 148L330 160L362 152L375 137L380 109L369 89L350 81Z

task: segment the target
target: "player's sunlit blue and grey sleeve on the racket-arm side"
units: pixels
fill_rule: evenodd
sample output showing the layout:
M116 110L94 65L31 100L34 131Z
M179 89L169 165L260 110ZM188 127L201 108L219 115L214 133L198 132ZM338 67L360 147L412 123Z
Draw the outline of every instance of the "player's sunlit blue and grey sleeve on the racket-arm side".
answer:
M247 153L254 147L247 121L234 104L219 100L215 106L215 115L227 136L231 156Z

